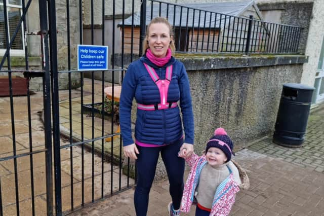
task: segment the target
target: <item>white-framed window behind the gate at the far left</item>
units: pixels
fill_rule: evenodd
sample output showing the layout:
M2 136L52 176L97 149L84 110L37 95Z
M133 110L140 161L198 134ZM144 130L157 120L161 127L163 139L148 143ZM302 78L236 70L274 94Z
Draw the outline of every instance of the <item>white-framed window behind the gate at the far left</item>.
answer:
M9 26L9 40L11 40L19 20L22 15L22 6L21 0L4 0L7 1L7 21ZM3 1L0 2L0 51L4 53L7 47L6 43L6 25L5 25L5 13L4 13L4 4ZM23 53L24 50L24 41L23 41L23 30L22 25L18 29L16 38L11 46L11 54Z

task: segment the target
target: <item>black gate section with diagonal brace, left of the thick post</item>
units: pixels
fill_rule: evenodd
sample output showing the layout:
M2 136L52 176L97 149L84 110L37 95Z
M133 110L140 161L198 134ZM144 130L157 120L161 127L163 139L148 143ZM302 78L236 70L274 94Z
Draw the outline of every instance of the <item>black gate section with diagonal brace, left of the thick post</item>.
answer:
M2 20L1 24L2 27L5 30L5 33L3 34L3 38L5 39L5 48L6 52L4 54L4 57L1 60L0 69L2 74L7 74L8 78L3 79L5 82L8 83L9 86L9 104L10 106L8 109L10 109L10 116L11 116L11 138L12 138L12 151L9 151L8 154L2 154L0 157L0 162L3 163L3 168L6 169L6 165L13 163L13 172L9 171L9 174L6 174L2 172L0 176L0 215L6 215L6 214L14 214L17 215L24 212L24 208L21 207L21 205L25 205L24 202L29 203L29 208L31 208L30 212L32 215L35 214L35 206L36 206L36 188L37 185L34 184L34 179L36 178L36 175L39 173L36 173L36 170L39 170L36 168L34 169L35 163L34 158L38 157L39 155L45 156L45 159L43 160L44 169L42 169L41 173L43 173L43 177L46 177L46 182L42 183L46 186L46 211L47 214L52 215L53 214L53 178L52 178L52 139L51 139L51 92L50 92L50 59L49 59L49 37L48 37L48 21L47 21L47 5L45 1L39 1L39 26L40 31L39 34L41 35L42 40L42 54L43 54L43 60L44 64L42 64L41 70L31 70L29 67L29 60L28 60L28 47L24 47L25 51L25 58L24 58L24 69L17 69L13 68L11 66L11 55L9 50L13 47L13 45L17 42L15 40L17 35L22 35L22 29L23 32L27 32L26 28L26 19L25 15L31 5L31 1L28 1L27 4L25 4L24 1L21 2L19 13L15 13L15 10L17 8L12 7L11 5L8 6L8 1L3 1L2 6ZM14 10L12 10L14 9ZM21 16L20 16L21 15ZM16 19L18 22L16 26L10 26L9 27L9 19ZM11 32L9 32L9 30ZM9 37L10 35L10 37ZM4 66L5 61L7 61L6 68ZM19 86L14 86L14 78L13 73L16 73L20 75L20 77L25 76L26 78L26 98L14 98L14 94L21 94L17 93L17 89ZM33 140L32 140L32 117L31 117L31 92L29 91L29 80L33 77L41 77L42 83L43 83L43 115L44 115L44 145L34 147L33 146ZM4 83L5 83L4 82ZM21 85L24 83L19 83L18 85ZM23 118L25 122L27 122L28 125L28 139L25 140L28 143L28 148L26 148L26 151L19 151L19 144L17 143L17 136L19 136L19 125L20 122L17 122L19 119L19 112L17 113L15 108L17 107L18 103L23 103L23 105L27 106L27 118ZM20 107L23 106L22 104L19 104ZM17 117L17 118L16 118ZM8 124L9 125L9 124ZM17 127L16 127L17 126ZM7 128L10 131L10 128ZM17 129L17 130L16 130ZM2 150L6 149L7 147L6 142L1 143ZM2 153L4 153L2 151ZM22 163L28 162L29 164L26 165L28 168L28 174L23 175L19 174L19 170L21 167L19 167ZM3 170L3 169L2 169ZM12 175L10 174L12 173ZM45 175L44 175L45 173ZM23 176L22 176L23 175ZM21 202L23 197L25 197L25 194L22 192L22 188L25 188L26 185L23 185L21 182L24 182L24 179L22 178L29 178L28 183L28 191L30 192L30 196L28 199L25 199L24 202ZM10 182L12 182L13 187L5 187L11 185ZM12 193L11 193L12 192ZM15 193L13 193L15 192ZM15 200L15 202L11 203L10 200ZM10 206L14 206L10 210ZM8 211L6 211L8 210Z

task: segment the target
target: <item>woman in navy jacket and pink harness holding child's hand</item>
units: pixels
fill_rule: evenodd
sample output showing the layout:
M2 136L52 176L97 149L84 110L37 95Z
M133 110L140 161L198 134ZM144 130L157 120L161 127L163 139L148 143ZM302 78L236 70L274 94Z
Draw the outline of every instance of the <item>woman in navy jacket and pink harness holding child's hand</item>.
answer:
M170 215L179 215L186 157L193 153L194 125L188 75L184 65L172 57L174 37L167 19L154 18L143 41L145 54L132 62L121 88L119 121L124 155L136 159L136 215L146 215L159 153L170 183ZM131 134L131 108L137 102L135 142ZM180 109L182 121L180 117ZM183 125L183 127L182 127ZM183 129L184 128L184 134Z

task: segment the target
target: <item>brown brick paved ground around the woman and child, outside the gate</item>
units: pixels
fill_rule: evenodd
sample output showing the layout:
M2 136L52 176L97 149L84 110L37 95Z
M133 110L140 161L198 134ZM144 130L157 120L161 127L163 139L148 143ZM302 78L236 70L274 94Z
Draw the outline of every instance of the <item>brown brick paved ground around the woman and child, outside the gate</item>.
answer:
M309 117L302 148L280 147L264 137L236 153L251 187L238 193L231 215L324 215L323 117L321 104ZM135 215L133 194L128 190L73 215ZM169 201L168 182L154 183L148 215L167 215Z

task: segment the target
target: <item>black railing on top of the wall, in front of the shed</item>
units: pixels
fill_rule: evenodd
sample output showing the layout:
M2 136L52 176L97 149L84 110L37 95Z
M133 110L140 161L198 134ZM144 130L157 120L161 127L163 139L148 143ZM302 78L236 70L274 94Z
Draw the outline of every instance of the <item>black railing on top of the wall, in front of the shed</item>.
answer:
M146 22L157 16L166 17L174 26L176 52L298 53L301 27L262 21L259 16L248 18L201 10L190 4L149 2ZM142 17L143 10L141 13Z

